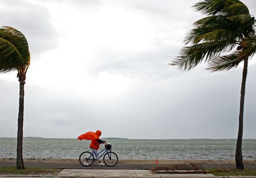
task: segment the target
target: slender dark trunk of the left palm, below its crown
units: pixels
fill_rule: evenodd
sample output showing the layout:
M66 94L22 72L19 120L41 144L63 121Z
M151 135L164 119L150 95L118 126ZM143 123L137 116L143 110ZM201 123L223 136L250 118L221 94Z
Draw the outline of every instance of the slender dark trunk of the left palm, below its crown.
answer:
M18 136L17 136L17 160L16 168L25 169L23 156L22 156L22 142L23 142L23 119L24 119L24 85L25 75L18 75L20 81L20 103L19 103L19 115L18 115Z

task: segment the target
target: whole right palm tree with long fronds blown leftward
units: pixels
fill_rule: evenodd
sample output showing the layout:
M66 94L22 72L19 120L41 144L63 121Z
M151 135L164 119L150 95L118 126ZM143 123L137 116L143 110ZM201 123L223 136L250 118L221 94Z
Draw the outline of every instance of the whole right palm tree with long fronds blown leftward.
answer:
M228 71L244 62L235 152L236 168L244 169L241 149L244 95L248 60L256 52L256 20L239 0L202 0L193 7L207 16L193 24L194 29L185 37L185 47L170 65L188 71L204 61L208 64L206 69L215 72Z

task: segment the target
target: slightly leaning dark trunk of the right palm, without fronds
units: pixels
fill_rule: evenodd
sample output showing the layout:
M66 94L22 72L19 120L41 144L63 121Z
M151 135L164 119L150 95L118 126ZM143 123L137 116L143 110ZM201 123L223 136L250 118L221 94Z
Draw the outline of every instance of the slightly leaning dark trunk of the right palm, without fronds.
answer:
M248 58L244 59L244 69L241 85L241 98L240 98L240 112L239 112L239 126L238 136L235 150L235 163L237 169L244 169L243 155L242 155L242 139L243 139L243 120L244 120L244 96L245 96L245 83L247 77Z

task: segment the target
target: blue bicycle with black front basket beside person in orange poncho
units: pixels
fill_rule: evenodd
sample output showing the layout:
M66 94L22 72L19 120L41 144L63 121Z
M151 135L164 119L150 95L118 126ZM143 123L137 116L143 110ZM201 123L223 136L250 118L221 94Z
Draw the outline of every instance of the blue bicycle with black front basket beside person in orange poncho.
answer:
M97 155L100 155L99 159L103 156L103 161L107 166L115 166L118 163L118 155L115 152L112 152L111 144L105 144L105 149L101 150ZM79 156L79 162L83 166L91 166L94 161L99 161L97 159L97 155L95 155L96 159L94 158L95 152L82 152Z

